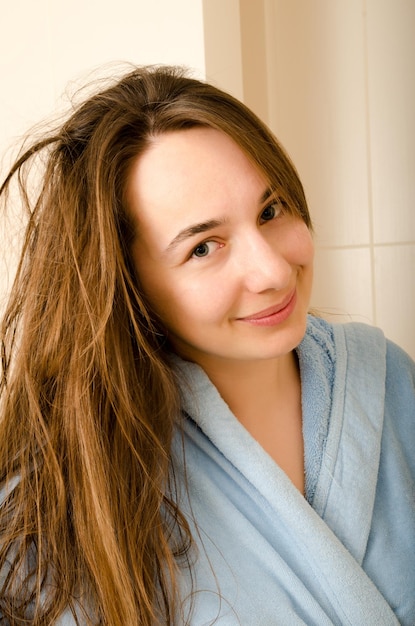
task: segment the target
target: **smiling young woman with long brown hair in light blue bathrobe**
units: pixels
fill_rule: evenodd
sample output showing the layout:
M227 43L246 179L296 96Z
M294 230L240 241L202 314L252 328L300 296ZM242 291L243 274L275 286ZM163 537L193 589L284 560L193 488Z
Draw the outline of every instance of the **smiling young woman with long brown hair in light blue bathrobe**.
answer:
M307 315L310 217L267 128L138 68L15 179L2 623L413 624L415 366Z

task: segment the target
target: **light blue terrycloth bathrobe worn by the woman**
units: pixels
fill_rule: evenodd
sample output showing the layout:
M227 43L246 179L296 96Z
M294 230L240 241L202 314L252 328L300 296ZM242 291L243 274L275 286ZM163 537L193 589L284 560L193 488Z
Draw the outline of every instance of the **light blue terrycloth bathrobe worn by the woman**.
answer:
M189 623L414 626L415 364L378 329L312 317L297 352L306 498L176 359Z

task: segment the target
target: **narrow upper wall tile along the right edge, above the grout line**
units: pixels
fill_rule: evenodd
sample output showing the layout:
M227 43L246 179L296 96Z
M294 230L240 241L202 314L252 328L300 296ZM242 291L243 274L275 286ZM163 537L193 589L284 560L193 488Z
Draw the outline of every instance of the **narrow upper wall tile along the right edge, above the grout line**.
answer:
M415 2L367 0L374 241L415 239Z

